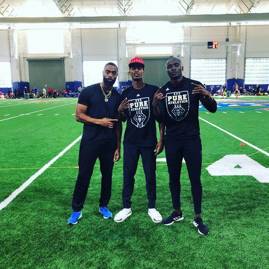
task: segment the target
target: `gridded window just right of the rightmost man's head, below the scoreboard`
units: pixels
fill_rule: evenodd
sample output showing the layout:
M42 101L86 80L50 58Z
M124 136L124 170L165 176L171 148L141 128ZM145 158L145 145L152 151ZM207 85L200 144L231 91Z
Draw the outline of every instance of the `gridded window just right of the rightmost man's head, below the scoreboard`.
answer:
M190 78L206 85L226 83L226 59L191 59Z

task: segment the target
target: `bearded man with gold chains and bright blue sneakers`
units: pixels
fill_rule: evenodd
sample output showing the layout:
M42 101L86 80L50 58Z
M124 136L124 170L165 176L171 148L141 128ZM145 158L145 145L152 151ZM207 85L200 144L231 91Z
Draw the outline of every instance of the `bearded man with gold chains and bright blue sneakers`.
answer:
M102 174L99 212L104 218L112 217L107 205L111 197L114 162L121 157L122 135L122 122L118 121L121 95L112 87L117 76L118 67L109 62L103 70L103 81L84 88L79 95L76 121L84 123L84 126L79 148L79 174L69 224L76 224L82 217L81 211L97 158Z

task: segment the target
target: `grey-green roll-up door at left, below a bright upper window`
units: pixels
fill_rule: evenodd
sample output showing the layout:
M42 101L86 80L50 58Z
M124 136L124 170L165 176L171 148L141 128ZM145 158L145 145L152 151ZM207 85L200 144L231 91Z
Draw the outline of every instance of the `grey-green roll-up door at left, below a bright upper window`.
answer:
M42 94L43 87L47 85L51 89L56 88L59 92L65 88L65 66L61 60L36 61L28 60L30 89L37 86ZM47 91L48 93L48 91Z

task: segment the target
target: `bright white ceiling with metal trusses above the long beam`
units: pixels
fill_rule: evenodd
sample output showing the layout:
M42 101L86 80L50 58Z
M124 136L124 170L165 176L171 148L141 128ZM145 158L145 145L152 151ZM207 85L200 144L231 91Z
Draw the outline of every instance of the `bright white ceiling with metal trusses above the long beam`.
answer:
M0 17L267 13L269 0L0 0Z

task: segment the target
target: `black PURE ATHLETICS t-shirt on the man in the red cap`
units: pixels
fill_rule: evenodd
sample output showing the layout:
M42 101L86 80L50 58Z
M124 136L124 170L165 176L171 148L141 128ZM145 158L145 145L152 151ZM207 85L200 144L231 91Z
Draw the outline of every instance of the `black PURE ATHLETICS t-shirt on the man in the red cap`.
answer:
M159 87L145 83L139 90L133 86L122 92L121 98L132 100L131 107L124 111L127 116L127 124L124 133L123 143L135 144L138 146L156 146L156 122L161 122L163 115L155 118L153 115L153 97Z

